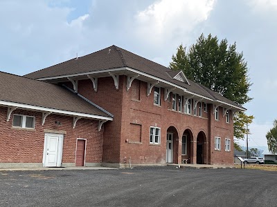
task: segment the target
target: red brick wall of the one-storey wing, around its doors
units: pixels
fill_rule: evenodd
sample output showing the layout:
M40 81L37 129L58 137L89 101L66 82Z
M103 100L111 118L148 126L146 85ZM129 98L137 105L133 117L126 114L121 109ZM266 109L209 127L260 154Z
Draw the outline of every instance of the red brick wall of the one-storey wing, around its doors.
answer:
M35 117L35 129L12 127L13 114ZM76 139L87 139L86 162L102 161L102 134L98 132L98 121L80 119L73 129L73 118L62 115L48 115L42 126L42 112L15 110L10 121L6 121L7 108L0 107L0 162L2 163L42 163L44 150L44 130L66 131L62 152L63 163L75 162ZM60 121L57 126L55 121Z

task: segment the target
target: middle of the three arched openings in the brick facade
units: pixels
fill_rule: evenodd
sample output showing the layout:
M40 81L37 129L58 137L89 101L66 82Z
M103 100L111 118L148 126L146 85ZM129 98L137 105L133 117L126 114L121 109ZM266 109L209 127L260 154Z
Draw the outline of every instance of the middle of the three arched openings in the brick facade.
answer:
M193 132L186 129L182 136L181 159L185 163L193 163Z

